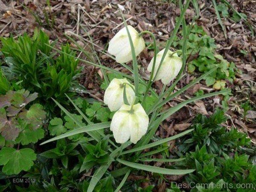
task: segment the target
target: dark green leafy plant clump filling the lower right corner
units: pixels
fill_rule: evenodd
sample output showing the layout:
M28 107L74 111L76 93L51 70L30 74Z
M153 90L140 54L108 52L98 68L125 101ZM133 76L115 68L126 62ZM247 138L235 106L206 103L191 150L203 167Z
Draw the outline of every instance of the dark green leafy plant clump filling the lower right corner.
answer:
M177 154L186 160L175 163L178 167L196 169L185 177L188 183L222 183L221 187L204 185L183 186L190 191L248 191L255 190L256 166L253 163L256 148L245 133L232 128L227 131L221 123L226 121L224 111L217 110L212 116L198 115L194 119L194 131L180 141ZM189 138L189 139L188 139ZM250 157L250 158L249 158ZM239 184L247 188L239 189ZM189 187L187 187L189 186ZM207 189L208 188L208 189ZM176 188L170 191L180 191Z

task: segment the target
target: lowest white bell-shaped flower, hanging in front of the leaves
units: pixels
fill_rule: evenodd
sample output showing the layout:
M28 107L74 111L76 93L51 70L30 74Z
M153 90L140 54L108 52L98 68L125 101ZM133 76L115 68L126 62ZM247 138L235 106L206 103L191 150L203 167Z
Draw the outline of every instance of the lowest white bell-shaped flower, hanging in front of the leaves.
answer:
M110 130L113 131L116 143L125 143L129 139L137 143L148 130L148 116L140 103L133 106L122 105L114 114Z

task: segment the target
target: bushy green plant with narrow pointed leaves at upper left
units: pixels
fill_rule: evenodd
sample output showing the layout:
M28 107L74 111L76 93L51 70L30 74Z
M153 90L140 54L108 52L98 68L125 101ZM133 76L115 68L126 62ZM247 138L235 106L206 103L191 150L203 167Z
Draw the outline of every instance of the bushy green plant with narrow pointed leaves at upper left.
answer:
M35 30L33 38L24 34L17 40L1 38L1 43L6 64L2 69L6 78L38 93L38 99L47 111L52 113L55 108L51 97L66 105L64 94L73 96L73 92L81 90L76 81L81 69L78 68L78 60L72 57L75 52L69 44L63 45L63 53L56 55L49 47L55 42L50 42L48 35L38 30ZM4 82L1 81L2 86Z

